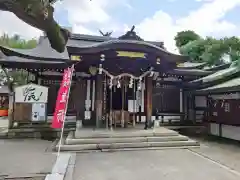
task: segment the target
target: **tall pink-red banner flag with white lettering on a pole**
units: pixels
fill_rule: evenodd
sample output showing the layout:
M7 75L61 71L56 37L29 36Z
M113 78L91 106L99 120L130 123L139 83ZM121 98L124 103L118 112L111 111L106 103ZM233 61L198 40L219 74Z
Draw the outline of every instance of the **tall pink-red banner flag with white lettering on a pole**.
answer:
M68 106L73 71L74 66L64 70L63 80L58 90L56 107L52 120L52 128L61 129L63 127Z

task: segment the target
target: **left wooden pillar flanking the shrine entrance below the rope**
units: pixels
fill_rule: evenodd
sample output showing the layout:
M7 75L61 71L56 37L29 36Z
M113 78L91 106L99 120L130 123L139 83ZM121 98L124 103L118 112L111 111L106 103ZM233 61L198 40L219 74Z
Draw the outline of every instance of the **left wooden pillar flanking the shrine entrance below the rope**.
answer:
M100 128L102 125L102 110L103 110L103 76L102 74L96 75L96 128Z

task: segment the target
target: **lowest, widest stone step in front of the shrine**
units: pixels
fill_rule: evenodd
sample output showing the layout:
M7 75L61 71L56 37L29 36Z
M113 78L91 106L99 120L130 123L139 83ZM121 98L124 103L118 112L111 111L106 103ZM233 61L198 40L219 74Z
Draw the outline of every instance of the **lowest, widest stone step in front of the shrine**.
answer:
M63 144L61 151L86 151L86 150L114 150L124 148L150 148L150 147L181 147L199 146L196 141L167 141L167 142L138 142L138 143L108 143L108 144ZM56 150L58 145L56 146Z

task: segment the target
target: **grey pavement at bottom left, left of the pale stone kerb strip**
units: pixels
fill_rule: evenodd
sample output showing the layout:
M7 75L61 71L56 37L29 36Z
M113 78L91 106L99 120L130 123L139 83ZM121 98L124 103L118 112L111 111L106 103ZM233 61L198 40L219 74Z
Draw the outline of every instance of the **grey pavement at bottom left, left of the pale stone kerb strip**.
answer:
M51 146L43 140L0 140L0 177L51 173L56 161Z

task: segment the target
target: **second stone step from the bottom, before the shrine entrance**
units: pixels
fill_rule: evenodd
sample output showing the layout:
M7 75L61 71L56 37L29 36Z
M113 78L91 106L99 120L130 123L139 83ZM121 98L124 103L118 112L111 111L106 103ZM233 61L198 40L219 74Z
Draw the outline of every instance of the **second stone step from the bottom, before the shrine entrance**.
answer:
M112 143L140 143L140 142L166 142L187 141L186 136L149 136L149 137L112 137L112 138L67 138L66 144L112 144Z

